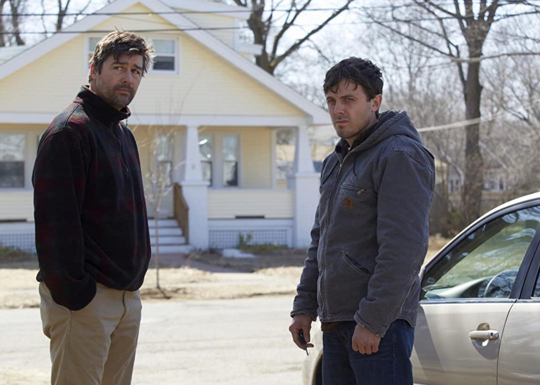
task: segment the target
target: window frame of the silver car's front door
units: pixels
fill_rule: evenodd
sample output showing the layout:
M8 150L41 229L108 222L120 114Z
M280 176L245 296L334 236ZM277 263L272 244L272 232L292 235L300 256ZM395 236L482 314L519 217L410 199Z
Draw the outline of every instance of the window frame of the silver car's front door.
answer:
M428 264L422 269L422 272L420 274L420 282L422 283L424 280L424 276L426 273L428 273L434 266L436 266L448 253L454 250L454 248L461 244L463 240L465 240L471 233L474 233L479 228L487 224L488 222L491 222L492 220L495 220L497 218L504 217L504 215L511 214L513 212L524 210L525 208L530 208L534 206L540 206L540 199L534 199L525 201L516 205L512 205L510 207L503 208L502 210L499 210L497 212L491 213L488 217L481 218L480 220L477 220L476 222L473 222L473 224L469 225L467 228L465 228L460 234L458 234L453 240L451 240L446 246L444 246L429 262ZM512 286L512 292L510 293L509 298L452 298L452 299L431 299L431 300L421 300L421 305L430 305L430 304L437 304L437 303L480 303L480 302L508 302L508 301L516 301L518 298L521 298L523 293L525 292L527 282L526 280L531 280L529 277L529 272L532 269L532 261L533 259L537 259L538 261L538 267L540 268L540 255L538 254L538 245L540 244L540 227L538 227L534 237L532 238L531 243L529 244L529 247L527 248L527 252L525 253L525 256L521 262L521 266L519 267L516 280L514 281L514 286ZM536 255L536 256L535 256ZM529 286L534 289L534 285L536 285L536 276L534 276L534 282L529 283ZM532 285L532 286L531 286ZM530 300L530 295L532 294L532 289L529 292L528 299Z

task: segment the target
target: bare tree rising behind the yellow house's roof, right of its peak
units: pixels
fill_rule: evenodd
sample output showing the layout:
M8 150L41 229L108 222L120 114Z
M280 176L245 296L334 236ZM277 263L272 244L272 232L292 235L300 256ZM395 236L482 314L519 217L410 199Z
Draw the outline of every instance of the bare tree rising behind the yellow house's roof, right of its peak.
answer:
M309 9L312 0L290 0L285 12L281 16L275 10L284 6L284 0L224 0L223 2L234 3L246 6L252 10L247 21L249 29L253 33L253 42L262 45L262 54L255 58L255 63L266 72L274 75L276 67L289 57L293 52L298 51L302 44L309 41L315 33L321 31L336 16L349 8L349 4L354 0L343 0L341 8L336 9L323 22L315 28L304 31L303 36L293 43L284 43L286 32L295 26L300 15ZM279 27L278 27L279 26ZM278 32L273 30L278 27Z

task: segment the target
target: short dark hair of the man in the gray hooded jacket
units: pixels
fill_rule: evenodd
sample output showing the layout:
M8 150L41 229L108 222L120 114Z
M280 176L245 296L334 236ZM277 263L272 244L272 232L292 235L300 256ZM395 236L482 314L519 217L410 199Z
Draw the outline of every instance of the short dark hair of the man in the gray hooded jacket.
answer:
M322 86L325 94L328 93L328 90L337 92L339 83L343 79L347 79L357 86L362 86L368 100L382 94L382 71L371 60L349 57L335 64L326 72L325 84Z

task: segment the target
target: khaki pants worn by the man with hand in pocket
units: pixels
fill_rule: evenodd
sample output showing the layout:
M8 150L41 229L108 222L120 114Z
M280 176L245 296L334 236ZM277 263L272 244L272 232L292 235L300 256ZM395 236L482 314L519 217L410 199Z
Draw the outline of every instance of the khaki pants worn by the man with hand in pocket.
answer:
M52 385L129 385L139 336L139 291L100 283L92 301L72 311L39 284L43 333L51 340Z

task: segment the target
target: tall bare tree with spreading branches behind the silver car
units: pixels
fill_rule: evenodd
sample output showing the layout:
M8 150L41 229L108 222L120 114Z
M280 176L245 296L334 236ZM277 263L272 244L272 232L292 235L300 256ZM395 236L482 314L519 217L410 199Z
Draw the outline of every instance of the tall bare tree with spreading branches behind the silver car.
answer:
M522 12L508 9L510 4L521 4ZM388 12L368 12L370 19L383 29L406 37L428 48L437 57L449 59L457 67L463 87L465 118L478 121L481 117L481 63L488 58L512 55L534 55L535 52L514 52L499 46L494 55L484 55L488 33L495 23L535 12L529 2L500 2L481 0L454 0L447 6L433 0L413 0L406 6L392 6ZM516 11L515 8L511 8ZM388 15L389 13L389 15ZM388 18L390 16L390 18ZM393 23L388 23L388 20ZM457 30L455 27L457 26ZM410 33L410 27L415 33ZM461 44L464 42L466 55ZM484 166L480 151L480 123L470 124L465 139L465 181L462 194L464 211L462 224L468 224L480 215Z

